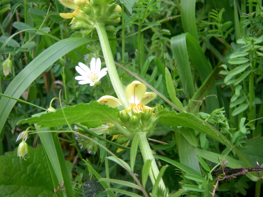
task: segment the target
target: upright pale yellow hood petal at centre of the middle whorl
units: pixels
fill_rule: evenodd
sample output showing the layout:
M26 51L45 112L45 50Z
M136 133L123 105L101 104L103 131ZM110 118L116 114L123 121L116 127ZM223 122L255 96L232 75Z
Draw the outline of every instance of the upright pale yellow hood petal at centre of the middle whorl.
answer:
M126 98L129 103L138 105L146 92L146 86L140 81L133 81L125 90Z

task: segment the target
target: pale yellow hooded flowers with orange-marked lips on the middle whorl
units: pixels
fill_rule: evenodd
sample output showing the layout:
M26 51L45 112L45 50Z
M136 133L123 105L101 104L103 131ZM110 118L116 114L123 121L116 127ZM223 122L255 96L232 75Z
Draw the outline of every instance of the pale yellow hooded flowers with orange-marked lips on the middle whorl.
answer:
M146 86L140 81L133 81L131 84L129 84L125 90L125 94L130 106L124 111L130 112L131 109L133 109L134 113L141 113L143 109L150 111L155 109L155 107L151 108L145 105L155 99L156 94L152 92L146 92ZM121 105L119 99L108 95L101 97L98 102L101 104L107 104L113 108Z

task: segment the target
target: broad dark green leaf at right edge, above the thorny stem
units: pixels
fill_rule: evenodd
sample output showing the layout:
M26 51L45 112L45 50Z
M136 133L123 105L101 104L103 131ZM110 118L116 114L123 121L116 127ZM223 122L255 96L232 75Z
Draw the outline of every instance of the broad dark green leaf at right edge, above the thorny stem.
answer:
M244 140L246 149L240 149L240 152L251 163L252 166L263 164L263 137L254 137L250 140Z

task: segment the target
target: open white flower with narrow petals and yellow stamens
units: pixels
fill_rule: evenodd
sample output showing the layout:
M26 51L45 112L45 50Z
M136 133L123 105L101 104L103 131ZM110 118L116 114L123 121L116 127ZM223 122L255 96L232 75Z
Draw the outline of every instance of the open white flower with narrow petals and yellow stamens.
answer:
M107 68L101 69L101 59L92 58L90 62L90 69L85 64L79 62L79 66L76 66L76 70L81 76L76 76L76 80L80 80L79 84L90 83L90 86L97 85L100 79L107 74Z

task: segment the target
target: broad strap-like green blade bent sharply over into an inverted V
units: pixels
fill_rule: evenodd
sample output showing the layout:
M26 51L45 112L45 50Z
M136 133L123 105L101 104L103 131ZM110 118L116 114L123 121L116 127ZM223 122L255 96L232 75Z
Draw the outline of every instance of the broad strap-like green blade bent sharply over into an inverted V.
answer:
M182 85L186 91L187 97L191 99L195 91L189 59L191 60L194 68L197 70L202 84L205 83L207 77L212 73L212 67L207 61L199 42L197 42L196 39L189 33L172 37L171 47L179 69ZM212 85L209 94L217 95L215 85ZM219 108L218 99L207 97L205 102L207 113L211 113L214 109Z

